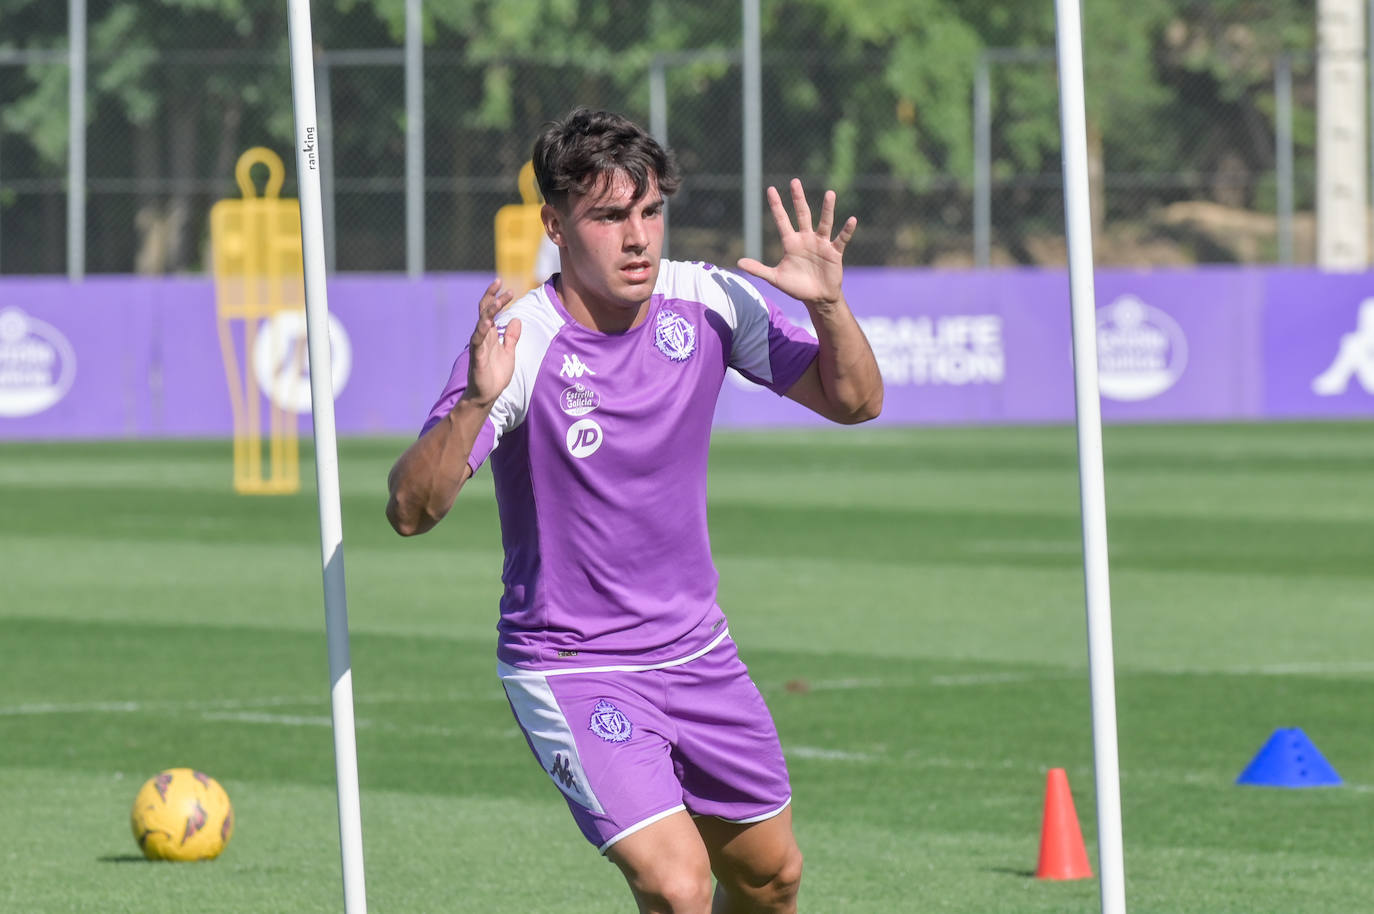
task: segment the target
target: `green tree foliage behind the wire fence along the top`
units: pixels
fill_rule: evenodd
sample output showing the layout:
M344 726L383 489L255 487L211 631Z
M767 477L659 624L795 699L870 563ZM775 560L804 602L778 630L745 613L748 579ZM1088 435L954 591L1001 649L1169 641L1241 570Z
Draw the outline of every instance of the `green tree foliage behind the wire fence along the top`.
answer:
M405 0L312 7L323 49L396 48L404 37ZM1085 0L1090 132L1106 172L1230 169L1253 198L1263 186L1253 176L1272 168L1275 59L1311 51L1312 7ZM996 56L1052 49L1051 0L763 0L761 14L771 176L801 173L841 190L967 188L980 59L993 62L995 173L1009 180L1058 169L1052 60ZM66 4L0 0L0 48L66 48ZM475 225L514 187L540 124L576 103L647 120L647 76L661 66L669 140L688 173L702 176L701 202L739 170L739 22L730 3L429 0L426 173L452 176L453 219ZM92 137L120 139L99 150L92 175L180 180L176 197L198 180L227 183L234 155L250 143L290 146L286 43L282 0L89 0L88 106L100 126ZM398 177L401 85L398 67L335 73L341 175ZM5 172L59 176L67 144L60 59L0 66L0 92ZM1309 118L1298 128L1309 143ZM464 187L477 195L464 198ZM364 246L387 234L382 223L374 228ZM174 265L194 260L188 246Z

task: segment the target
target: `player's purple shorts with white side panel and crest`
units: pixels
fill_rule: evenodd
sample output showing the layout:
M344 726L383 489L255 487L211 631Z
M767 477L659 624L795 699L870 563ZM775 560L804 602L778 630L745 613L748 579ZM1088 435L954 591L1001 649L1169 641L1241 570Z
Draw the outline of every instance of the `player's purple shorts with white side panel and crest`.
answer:
M500 664L500 678L534 757L602 854L679 810L760 822L791 800L772 715L728 632L666 667Z

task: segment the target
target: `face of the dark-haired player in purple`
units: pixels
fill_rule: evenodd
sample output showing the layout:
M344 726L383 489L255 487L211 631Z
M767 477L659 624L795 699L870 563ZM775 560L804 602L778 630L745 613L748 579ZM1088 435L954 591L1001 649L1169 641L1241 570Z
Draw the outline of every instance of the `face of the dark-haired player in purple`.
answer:
M585 197L573 197L567 213L556 213L550 232L559 246L565 304L585 308L603 330L627 328L640 316L658 280L664 250L664 198L650 176L635 197L624 172Z

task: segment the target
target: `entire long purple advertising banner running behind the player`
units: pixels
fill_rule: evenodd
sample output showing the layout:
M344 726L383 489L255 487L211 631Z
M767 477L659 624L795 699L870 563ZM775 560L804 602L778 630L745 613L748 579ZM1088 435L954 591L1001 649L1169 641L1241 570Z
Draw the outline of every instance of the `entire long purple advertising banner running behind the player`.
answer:
M482 274L330 279L341 434L414 434L471 333ZM761 291L794 322L805 309ZM878 423L1072 422L1061 271L853 268L845 293L886 383ZM1099 271L1107 422L1374 415L1374 278L1311 269ZM232 322L231 322L232 323ZM229 371L309 432L304 320L243 322L225 366L210 279L0 280L0 440L228 436ZM732 377L723 426L819 422Z

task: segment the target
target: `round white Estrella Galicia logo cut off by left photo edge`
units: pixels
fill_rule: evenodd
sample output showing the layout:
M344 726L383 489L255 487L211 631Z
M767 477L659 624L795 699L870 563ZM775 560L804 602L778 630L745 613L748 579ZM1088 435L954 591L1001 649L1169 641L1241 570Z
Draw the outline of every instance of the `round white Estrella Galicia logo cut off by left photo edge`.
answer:
M0 311L0 418L43 412L76 377L77 353L62 331L18 308Z

